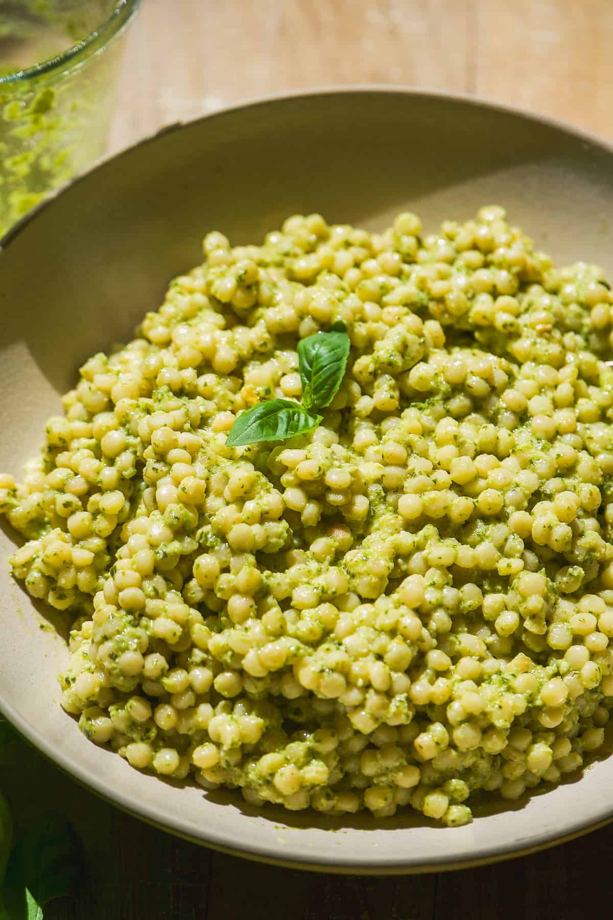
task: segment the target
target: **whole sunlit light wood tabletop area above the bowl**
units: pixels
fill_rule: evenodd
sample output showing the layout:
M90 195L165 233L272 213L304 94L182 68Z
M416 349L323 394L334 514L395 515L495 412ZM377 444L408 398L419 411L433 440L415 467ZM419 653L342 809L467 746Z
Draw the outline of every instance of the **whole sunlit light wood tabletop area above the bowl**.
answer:
M404 84L613 137L610 0L143 0L110 149L171 121L312 86Z

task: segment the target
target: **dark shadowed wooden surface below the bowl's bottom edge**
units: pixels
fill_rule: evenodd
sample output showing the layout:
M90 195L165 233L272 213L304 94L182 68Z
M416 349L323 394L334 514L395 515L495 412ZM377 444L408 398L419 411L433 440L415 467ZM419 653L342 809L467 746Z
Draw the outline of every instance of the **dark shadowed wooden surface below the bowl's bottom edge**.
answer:
M64 812L87 875L45 920L580 920L607 911L613 825L495 866L403 878L343 877L222 856L112 808L25 744L0 752L17 822ZM453 831L449 831L453 834Z

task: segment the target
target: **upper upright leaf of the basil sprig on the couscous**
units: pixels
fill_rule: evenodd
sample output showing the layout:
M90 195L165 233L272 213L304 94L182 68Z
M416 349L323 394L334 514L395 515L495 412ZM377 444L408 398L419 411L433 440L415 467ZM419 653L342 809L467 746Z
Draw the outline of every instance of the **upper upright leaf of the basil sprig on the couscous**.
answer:
M298 343L305 408L329 406L343 382L351 342L346 332L317 332Z

